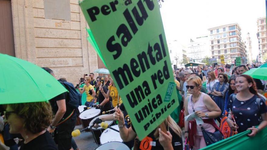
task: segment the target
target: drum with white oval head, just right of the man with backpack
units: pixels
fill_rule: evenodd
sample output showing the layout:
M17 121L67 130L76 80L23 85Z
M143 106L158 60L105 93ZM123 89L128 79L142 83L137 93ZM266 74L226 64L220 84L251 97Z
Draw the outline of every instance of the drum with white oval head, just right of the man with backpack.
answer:
M88 127L93 118L99 115L100 115L100 109L96 108L87 109L86 111L82 112L79 117L82 120L83 128ZM90 132L90 129L86 129L85 131Z

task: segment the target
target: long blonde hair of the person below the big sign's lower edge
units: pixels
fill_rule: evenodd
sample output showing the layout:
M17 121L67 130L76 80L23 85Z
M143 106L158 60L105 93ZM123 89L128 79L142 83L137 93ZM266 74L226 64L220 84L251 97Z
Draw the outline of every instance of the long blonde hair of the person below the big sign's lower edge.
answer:
M167 130L169 131L169 128L172 129L172 131L177 134L178 136L182 136L182 130L181 128L179 127L179 125L177 125L177 123L173 120L173 118L171 118L171 116L169 115L166 119L165 119L165 125L167 127ZM154 132L154 137L156 139L159 138L159 131L158 131L158 128L156 128L156 131Z

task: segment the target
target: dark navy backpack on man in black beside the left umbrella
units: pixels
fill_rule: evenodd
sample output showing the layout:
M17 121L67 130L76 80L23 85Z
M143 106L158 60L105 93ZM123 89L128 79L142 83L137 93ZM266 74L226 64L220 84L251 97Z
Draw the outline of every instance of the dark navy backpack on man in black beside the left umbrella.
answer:
M76 91L72 83L60 81L65 88L69 91L68 106L76 109L82 105L82 95Z

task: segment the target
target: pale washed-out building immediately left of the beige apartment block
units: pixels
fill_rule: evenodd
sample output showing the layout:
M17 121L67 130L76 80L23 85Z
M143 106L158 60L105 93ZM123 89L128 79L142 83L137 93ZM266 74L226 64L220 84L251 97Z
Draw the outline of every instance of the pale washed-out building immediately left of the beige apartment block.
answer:
M191 62L201 62L205 56L211 57L208 35L191 39L188 44L188 57Z

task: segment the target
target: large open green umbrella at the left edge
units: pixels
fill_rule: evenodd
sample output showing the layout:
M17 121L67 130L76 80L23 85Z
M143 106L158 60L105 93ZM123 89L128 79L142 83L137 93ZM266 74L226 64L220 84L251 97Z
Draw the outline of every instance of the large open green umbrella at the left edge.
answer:
M44 69L0 53L0 104L42 102L66 91Z

